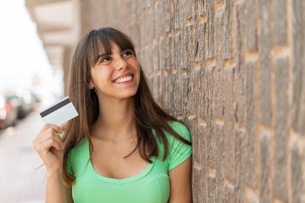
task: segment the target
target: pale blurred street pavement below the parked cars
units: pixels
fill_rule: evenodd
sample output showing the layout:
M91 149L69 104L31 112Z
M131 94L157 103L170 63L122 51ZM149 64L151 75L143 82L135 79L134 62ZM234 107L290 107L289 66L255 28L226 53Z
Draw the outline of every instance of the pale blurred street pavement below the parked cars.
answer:
M44 203L45 168L32 140L43 126L38 110L0 131L0 203Z

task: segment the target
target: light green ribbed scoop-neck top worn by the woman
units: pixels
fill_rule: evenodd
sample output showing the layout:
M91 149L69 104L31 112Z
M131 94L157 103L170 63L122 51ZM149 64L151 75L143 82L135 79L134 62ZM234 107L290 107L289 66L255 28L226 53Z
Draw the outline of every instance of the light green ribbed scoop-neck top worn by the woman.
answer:
M171 126L191 141L184 125L172 122ZM162 161L164 148L159 145L159 157L152 157L152 163L146 169L124 179L107 178L96 173L89 156L89 141L83 140L69 152L67 160L68 172L76 177L72 186L74 203L167 203L170 196L168 171L190 157L192 149L172 135L166 135L169 140L167 159Z

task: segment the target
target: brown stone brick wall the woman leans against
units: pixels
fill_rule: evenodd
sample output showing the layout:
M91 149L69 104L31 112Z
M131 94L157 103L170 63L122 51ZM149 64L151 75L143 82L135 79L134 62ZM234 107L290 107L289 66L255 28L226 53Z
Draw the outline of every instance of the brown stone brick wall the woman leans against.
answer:
M86 0L185 121L194 203L305 203L304 0Z

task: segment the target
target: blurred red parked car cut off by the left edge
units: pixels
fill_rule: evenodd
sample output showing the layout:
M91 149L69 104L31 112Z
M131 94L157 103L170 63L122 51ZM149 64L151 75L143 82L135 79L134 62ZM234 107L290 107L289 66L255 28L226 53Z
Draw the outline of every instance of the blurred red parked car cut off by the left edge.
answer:
M15 125L17 119L17 108L8 100L6 95L0 94L0 129Z

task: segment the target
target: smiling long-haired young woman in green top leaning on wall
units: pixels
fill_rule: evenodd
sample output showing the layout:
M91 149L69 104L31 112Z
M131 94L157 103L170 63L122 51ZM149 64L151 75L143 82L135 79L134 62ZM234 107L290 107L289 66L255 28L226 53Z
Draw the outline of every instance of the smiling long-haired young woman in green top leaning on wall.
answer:
M46 202L191 203L189 131L153 101L127 35L83 36L67 93L79 116L63 130L45 124L33 141Z

